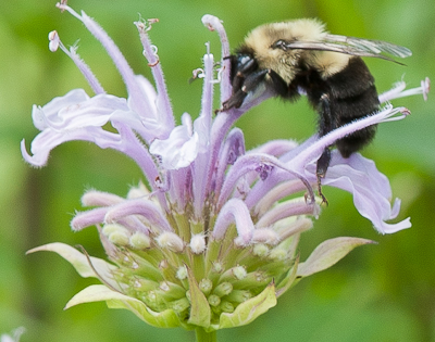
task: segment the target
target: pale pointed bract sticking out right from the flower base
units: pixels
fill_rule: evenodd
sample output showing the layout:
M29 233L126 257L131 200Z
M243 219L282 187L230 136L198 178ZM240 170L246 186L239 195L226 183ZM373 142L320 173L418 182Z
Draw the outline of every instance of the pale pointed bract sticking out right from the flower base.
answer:
M375 243L372 240L360 238L335 238L319 244L304 263L298 267L298 277L308 277L318 271L330 268L345 257L356 246Z

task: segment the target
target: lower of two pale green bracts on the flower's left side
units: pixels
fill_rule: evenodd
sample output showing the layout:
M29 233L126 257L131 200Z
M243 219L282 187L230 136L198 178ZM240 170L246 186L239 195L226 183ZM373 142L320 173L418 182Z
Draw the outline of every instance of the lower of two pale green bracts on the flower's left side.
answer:
M105 301L110 308L126 308L134 313L145 322L158 328L179 327L181 321L173 309L165 309L161 313L151 311L144 302L113 291L103 284L95 284L74 295L66 303L65 309L77 304Z

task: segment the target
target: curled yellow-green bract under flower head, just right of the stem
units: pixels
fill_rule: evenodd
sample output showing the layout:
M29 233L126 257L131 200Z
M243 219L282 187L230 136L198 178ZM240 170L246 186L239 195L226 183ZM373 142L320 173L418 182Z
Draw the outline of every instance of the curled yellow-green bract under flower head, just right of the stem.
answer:
M260 294L239 304L231 314L221 314L219 327L234 328L245 326L276 305L275 284L271 282Z

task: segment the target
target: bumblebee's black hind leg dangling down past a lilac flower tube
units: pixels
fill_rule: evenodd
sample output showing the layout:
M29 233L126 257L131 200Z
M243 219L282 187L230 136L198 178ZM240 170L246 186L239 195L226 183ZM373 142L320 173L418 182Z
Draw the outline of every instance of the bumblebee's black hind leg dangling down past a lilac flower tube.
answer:
M335 128L334 121L331 114L330 97L324 93L320 98L320 125L319 135L322 137ZM326 147L322 155L318 160L315 176L318 177L319 195L322 198L322 203L327 204L327 200L322 192L322 178L325 178L327 167L331 162L331 150Z

